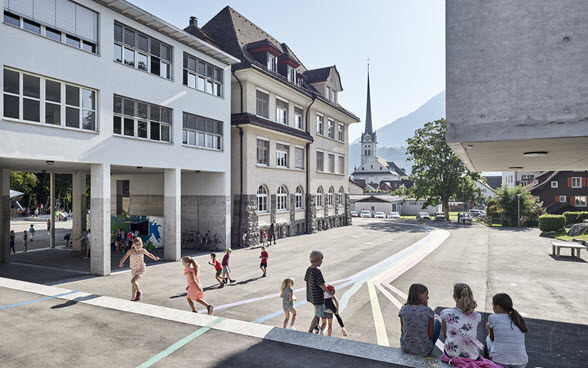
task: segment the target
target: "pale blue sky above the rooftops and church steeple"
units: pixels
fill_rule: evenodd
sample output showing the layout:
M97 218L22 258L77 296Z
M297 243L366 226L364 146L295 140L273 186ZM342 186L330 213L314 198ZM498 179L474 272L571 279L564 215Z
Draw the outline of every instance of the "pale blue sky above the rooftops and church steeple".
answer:
M288 44L306 68L336 65L343 84L339 103L361 118L350 128L350 142L364 129L368 58L376 129L445 90L444 0L130 2L182 29L190 16L202 27L229 5Z

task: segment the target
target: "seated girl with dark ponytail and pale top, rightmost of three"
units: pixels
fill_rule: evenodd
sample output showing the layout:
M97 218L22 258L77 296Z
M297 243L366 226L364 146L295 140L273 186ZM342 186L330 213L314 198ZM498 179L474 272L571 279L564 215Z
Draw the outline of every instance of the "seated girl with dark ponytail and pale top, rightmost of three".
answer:
M525 368L529 357L525 350L525 334L529 332L525 320L512 307L508 294L492 298L495 314L488 317L486 347L490 359L505 368Z

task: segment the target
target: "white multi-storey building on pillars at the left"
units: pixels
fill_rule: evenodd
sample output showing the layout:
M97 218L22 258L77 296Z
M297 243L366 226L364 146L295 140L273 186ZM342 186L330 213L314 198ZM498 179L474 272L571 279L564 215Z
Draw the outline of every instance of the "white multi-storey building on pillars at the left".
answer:
M5 0L3 17L2 198L10 170L71 173L76 238L89 174L93 274L110 273L117 213L163 217L168 260L181 256L182 228L226 244L238 59L122 0ZM187 82L192 63L202 88Z

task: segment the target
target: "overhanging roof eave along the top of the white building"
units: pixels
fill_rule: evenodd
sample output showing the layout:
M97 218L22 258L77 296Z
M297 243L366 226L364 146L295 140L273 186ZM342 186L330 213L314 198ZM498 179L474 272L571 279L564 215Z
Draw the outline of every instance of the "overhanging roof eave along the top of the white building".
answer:
M241 60L220 50L208 42L205 42L190 33L171 25L170 23L156 17L155 15L131 4L126 0L94 0L95 2L105 5L125 17L133 19L136 22L142 23L147 27L162 33L184 45L191 47L203 54L206 54L216 60L219 60L227 65L238 64Z

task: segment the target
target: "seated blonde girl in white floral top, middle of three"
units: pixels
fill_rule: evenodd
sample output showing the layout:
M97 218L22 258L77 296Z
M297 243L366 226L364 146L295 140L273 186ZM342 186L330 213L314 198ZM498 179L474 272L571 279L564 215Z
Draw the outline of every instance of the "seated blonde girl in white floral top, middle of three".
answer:
M482 316L475 312L478 306L472 289L467 284L453 287L455 308L443 309L439 314L443 320L445 355L449 358L476 360L484 346L477 340L478 324Z

